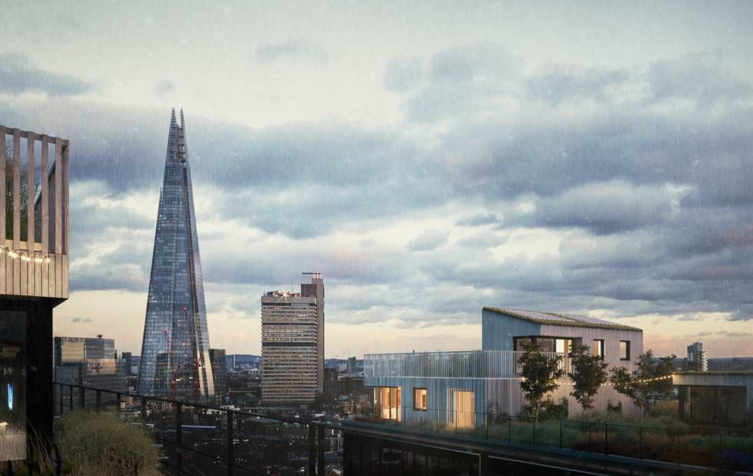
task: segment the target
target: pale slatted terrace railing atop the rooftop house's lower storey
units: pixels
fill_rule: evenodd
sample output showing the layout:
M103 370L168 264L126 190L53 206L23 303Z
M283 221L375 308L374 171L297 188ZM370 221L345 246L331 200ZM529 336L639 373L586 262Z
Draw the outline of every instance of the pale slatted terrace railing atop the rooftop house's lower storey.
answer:
M472 350L463 352L410 352L364 355L364 377L458 377L519 379L518 360L525 352ZM541 352L568 367L566 356Z

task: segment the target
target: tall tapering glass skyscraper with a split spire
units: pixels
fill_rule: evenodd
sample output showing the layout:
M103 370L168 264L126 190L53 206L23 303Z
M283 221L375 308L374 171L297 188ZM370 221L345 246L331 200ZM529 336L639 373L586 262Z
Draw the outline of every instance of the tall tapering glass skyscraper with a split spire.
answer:
M170 117L139 365L139 393L215 400L185 123Z

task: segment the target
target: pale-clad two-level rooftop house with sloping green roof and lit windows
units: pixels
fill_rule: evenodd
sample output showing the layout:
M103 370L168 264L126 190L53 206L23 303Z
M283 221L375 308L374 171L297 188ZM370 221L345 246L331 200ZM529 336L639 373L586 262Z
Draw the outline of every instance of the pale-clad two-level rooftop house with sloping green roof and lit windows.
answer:
M569 368L568 352L577 344L604 355L608 368L633 370L643 352L643 331L587 316L484 307L481 350L410 352L364 355L364 385L373 388L373 408L384 420L441 420L472 427L483 413L516 415L524 404L520 389L523 348L535 343L550 359ZM578 404L569 395L567 377L551 395L567 398L571 414ZM594 406L621 405L623 413L637 413L633 403L604 385Z

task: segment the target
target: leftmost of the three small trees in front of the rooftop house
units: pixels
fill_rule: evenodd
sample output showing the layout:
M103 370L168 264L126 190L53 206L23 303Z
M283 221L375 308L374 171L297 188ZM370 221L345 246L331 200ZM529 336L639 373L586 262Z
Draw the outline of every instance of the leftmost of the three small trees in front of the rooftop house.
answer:
M544 355L541 347L529 344L524 347L523 355L518 359L520 365L520 389L523 390L528 407L538 422L538 413L544 404L544 396L559 388L557 379L565 375L562 370L562 359Z

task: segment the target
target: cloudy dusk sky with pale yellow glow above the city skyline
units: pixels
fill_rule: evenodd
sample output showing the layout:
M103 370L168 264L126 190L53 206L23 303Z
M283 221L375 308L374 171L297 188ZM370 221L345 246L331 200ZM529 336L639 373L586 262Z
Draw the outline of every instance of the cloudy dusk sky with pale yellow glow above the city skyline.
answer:
M325 273L326 356L480 348L484 306L753 356L751 2L26 2L0 124L71 141L56 335L139 353L171 108L212 347Z

